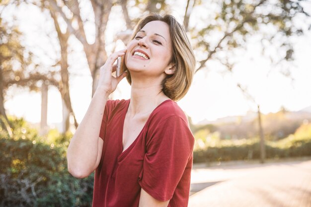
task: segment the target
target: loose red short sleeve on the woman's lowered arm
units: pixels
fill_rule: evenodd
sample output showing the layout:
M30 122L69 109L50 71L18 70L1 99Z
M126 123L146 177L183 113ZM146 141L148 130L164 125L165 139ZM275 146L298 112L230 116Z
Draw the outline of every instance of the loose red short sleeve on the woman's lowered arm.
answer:
M167 201L172 198L192 157L194 138L188 124L177 115L154 125L148 132L139 184L155 199Z

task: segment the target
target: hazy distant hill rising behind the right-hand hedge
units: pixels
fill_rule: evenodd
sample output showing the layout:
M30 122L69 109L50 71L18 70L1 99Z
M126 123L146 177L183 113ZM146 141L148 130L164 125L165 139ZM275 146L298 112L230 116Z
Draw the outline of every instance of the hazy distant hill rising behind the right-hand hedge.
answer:
M297 111L279 111L277 113L263 114L262 127L267 139L278 140L285 138L306 121L311 122L311 107ZM258 136L258 119L256 112L248 112L245 116L224 117L215 121L205 121L192 125L191 130L196 133L200 130L219 132L220 137L227 138L251 138Z

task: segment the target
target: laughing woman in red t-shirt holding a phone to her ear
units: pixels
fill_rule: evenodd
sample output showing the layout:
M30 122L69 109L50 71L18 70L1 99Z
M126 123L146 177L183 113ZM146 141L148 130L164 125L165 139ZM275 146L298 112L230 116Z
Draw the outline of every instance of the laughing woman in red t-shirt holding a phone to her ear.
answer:
M125 56L128 72L111 76ZM194 138L174 102L188 91L195 58L183 27L170 15L142 19L127 49L100 69L96 92L72 138L69 172L95 170L93 207L186 207ZM127 76L131 99L108 100Z

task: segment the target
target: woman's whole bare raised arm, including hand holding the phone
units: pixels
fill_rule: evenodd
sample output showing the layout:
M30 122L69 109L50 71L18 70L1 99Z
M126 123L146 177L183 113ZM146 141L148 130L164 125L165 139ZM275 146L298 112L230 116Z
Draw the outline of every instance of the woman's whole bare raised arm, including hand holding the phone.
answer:
M70 141L67 150L68 171L77 178L91 174L98 166L103 140L99 138L100 126L108 96L112 93L122 78L124 72L115 78L111 76L113 63L119 56L125 55L126 50L115 52L109 56L104 66L100 68L97 89L77 131Z

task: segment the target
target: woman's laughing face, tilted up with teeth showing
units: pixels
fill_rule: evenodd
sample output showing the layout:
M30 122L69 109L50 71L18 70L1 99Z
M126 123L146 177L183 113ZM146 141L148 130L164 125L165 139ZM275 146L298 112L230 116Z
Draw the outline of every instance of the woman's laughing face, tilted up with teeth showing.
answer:
M172 43L169 26L162 21L147 23L127 45L125 63L131 72L149 76L170 74Z

